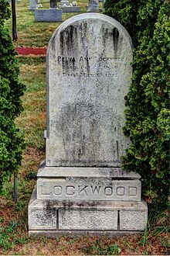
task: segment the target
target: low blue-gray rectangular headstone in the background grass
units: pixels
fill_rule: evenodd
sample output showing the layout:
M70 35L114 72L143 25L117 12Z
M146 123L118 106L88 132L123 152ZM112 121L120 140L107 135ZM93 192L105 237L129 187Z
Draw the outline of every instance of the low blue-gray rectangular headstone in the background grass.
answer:
M35 10L36 22L62 22L62 10L50 8L48 10Z

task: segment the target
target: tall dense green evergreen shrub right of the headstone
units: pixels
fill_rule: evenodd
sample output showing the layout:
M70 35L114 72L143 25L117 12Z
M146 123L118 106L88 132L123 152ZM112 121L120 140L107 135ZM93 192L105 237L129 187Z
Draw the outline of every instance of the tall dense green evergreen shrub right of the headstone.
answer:
M134 42L133 77L126 97L124 134L131 146L123 168L138 171L150 206L168 203L169 1L107 0L105 12L121 22Z

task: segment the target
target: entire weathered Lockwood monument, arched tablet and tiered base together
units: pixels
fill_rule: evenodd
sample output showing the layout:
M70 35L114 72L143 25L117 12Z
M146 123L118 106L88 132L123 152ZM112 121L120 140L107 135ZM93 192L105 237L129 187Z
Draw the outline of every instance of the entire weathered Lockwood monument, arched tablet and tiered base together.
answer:
M67 19L47 53L46 160L29 202L29 234L124 234L144 230L140 175L121 170L124 96L132 43L116 20Z

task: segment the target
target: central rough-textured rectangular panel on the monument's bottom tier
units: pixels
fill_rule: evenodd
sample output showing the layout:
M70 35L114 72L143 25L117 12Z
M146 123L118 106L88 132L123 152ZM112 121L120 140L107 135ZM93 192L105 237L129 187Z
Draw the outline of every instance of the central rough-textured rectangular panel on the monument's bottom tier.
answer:
M59 230L117 230L117 211L59 209Z

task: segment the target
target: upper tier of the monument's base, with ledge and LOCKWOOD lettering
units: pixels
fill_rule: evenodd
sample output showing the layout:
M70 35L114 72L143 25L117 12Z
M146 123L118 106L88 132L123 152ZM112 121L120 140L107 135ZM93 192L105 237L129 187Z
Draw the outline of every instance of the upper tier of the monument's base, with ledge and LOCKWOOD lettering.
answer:
M141 176L121 168L58 168L43 161L37 178L37 199L141 201Z

